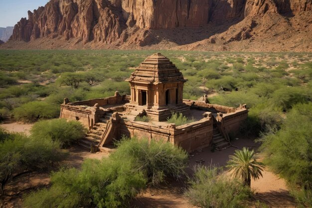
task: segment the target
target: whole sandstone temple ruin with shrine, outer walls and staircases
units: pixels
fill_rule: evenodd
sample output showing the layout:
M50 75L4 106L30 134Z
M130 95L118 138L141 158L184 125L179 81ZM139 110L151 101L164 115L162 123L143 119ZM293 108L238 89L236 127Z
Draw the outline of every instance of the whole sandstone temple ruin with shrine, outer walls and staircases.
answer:
M247 118L246 105L239 108L183 99L187 81L175 65L160 53L146 58L127 79L131 95L70 102L64 99L60 118L80 121L89 131L80 145L111 151L123 136L161 140L188 152L213 145L222 150L231 145L229 134L237 134ZM205 97L204 97L205 98ZM171 113L182 113L195 121L169 124ZM137 121L146 115L149 122Z

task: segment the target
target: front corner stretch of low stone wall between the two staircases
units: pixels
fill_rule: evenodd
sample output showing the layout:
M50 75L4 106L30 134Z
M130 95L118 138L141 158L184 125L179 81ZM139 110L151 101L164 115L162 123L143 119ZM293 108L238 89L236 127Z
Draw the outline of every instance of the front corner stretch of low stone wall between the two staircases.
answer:
M149 140L155 139L170 142L187 152L192 152L210 145L213 132L212 124L212 118L204 118L178 127L175 127L174 124L157 127L146 122L122 120L118 129L118 138L125 135L127 137L148 138Z

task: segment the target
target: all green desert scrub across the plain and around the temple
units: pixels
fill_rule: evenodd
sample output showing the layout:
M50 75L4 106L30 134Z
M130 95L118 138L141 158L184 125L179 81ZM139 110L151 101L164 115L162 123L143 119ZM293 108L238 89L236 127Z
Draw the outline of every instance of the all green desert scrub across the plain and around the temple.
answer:
M30 137L0 132L0 159L3 160L0 166L4 167L0 170L12 167L9 171L14 171L9 174L10 179L14 179L23 172L47 170L47 166L36 167L33 166L36 163L31 161L58 163L58 155L62 152L60 149L75 143L84 132L75 123L69 122L69 126L64 126L66 122L62 120L45 121L58 117L63 99L67 97L70 101L77 101L108 97L114 95L116 90L120 94L130 94L129 84L124 80L129 78L146 56L154 52L0 51L0 120L35 122ZM266 168L286 179L298 206L311 207L312 54L160 52L169 57L188 79L183 89L184 99L196 100L208 94L208 100L213 104L232 107L247 104L248 119L242 125L241 134L256 138L261 143L259 151L265 155L263 163ZM149 118L138 119L149 122ZM177 124L181 121L177 126L187 123L185 118L177 114L170 119L175 120L169 123ZM32 152L38 143L47 144L44 145L45 149L39 149L42 155L33 156ZM182 175L186 156L180 150L161 147L164 150L159 155L165 158L168 152L179 155L166 158L172 163L164 167L161 166L163 161L154 158L157 149L153 149L153 145L148 147L147 143L124 140L118 146L120 151L109 159L88 160L81 170L62 169L54 172L51 188L28 195L25 205L29 207L30 204L37 204L40 207L47 202L72 202L72 207L120 207L140 190L165 181L170 173L174 173L174 177ZM48 153L54 154L53 160ZM133 153L136 154L131 155ZM154 160L146 160L152 156ZM128 165L121 162L125 157L131 158ZM116 162L113 162L113 158ZM141 164L141 168L138 164ZM102 166L110 168L104 169ZM158 166L163 171L157 169ZM91 175L89 170L96 174ZM135 174L134 170L137 170ZM131 177L127 179L124 173ZM8 180L4 176L7 173L1 173L0 180L5 185ZM241 206L241 201L251 194L249 188L243 186L239 179L228 181L223 180L224 177L223 171L219 169L198 167L194 177L189 180L186 196L193 204L202 207ZM79 187L82 180L85 183ZM123 190L117 191L121 185ZM205 190L209 186L214 187L210 198L202 196L207 193ZM216 197L224 193L224 187L231 187L235 192L235 195L224 198L229 202L228 205L224 204L225 201L219 202L220 199ZM65 193L62 196L68 198L62 202L55 200L60 193Z

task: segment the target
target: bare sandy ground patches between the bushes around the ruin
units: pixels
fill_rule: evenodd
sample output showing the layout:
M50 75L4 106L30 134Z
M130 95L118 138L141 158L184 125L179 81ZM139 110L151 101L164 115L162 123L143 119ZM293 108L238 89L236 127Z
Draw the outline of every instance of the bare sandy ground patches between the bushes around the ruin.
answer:
M24 132L29 135L32 124L7 123L0 124L0 127L9 132ZM232 142L233 146L241 149L249 147L257 149L259 144L248 138L238 138ZM237 148L230 147L222 151L211 151L211 147L195 151L190 154L189 175L193 172L193 167L198 165L196 161L204 161L201 165L221 167L226 165L229 155L233 155ZM63 162L65 166L80 168L85 159L101 159L107 157L107 153L91 154L79 146L74 146L68 150L69 156ZM260 155L261 157L261 155ZM7 187L10 194L18 193L21 190L31 187L44 187L50 182L49 174L29 174L20 180L15 181ZM18 187L18 189L16 189ZM263 178L252 181L251 188L255 191L254 200L266 203L271 208L295 208L294 199L289 196L286 183L269 170L263 172ZM159 189L149 189L142 193L132 203L133 208L195 208L191 206L183 196L185 185L182 182L172 182ZM21 208L21 198L8 198L4 204L5 208Z

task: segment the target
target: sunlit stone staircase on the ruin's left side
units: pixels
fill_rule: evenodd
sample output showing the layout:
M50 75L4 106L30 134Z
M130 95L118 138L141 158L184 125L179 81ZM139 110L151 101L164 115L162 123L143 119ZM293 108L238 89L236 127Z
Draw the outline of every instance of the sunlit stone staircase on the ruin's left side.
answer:
M98 151L99 143L106 130L107 121L110 120L112 114L113 112L107 113L103 118L100 118L100 122L93 125L93 128L90 129L85 137L79 141L79 145L91 152Z

